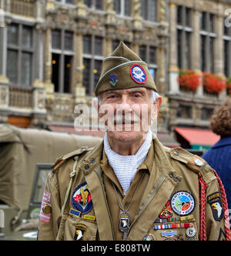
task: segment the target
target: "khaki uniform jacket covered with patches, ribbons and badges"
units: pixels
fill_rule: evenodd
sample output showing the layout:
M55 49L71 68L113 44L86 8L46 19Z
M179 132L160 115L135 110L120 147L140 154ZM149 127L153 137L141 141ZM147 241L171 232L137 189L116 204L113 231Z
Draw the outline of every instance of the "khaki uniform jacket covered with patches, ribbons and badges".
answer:
M182 148L163 147L155 135L125 197L109 166L103 142L57 160L45 187L38 238L122 240L119 231L122 211L116 189L124 209L129 208L131 215L127 241L199 240L203 210L199 201L200 176L206 186L203 197L206 238L226 240L227 213L212 168Z

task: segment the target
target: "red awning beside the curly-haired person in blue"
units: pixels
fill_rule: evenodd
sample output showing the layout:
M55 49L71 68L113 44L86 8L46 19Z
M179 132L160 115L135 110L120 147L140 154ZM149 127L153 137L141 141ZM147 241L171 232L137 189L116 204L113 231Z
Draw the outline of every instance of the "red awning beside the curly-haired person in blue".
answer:
M194 150L207 150L220 139L220 136L211 130L176 127L175 131L177 140L182 144L181 146L187 148L186 144L189 143Z

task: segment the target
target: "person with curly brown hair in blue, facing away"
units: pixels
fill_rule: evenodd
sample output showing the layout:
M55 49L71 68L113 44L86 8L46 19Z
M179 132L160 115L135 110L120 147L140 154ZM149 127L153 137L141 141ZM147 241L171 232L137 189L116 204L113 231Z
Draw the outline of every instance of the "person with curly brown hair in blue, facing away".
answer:
M221 106L215 109L210 120L210 128L213 133L221 136L216 143L204 155L203 159L223 182L229 209L231 207L231 98L226 99Z

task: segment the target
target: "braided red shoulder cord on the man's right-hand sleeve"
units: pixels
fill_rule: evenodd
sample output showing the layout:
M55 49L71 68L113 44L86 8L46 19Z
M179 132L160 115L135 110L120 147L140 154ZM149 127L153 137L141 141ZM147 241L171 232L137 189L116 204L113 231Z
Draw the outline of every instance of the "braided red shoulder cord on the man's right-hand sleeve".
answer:
M222 181L220 180L219 176L217 175L216 171L213 170L213 173L216 176L216 179L219 184L219 192L221 194L221 199L223 203L223 211L225 217L225 229L226 229L226 240L231 241L231 232L229 229L229 210L228 204L226 199L226 192L223 187ZM206 189L207 184L203 180L201 173L199 173L199 240L206 241Z

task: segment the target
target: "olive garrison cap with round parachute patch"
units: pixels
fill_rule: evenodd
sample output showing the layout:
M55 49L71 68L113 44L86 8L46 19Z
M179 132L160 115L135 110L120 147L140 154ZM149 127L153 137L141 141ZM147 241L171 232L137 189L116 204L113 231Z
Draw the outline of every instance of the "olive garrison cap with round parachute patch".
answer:
M157 92L146 62L123 42L102 62L102 74L95 87L95 96L113 89L145 87Z

